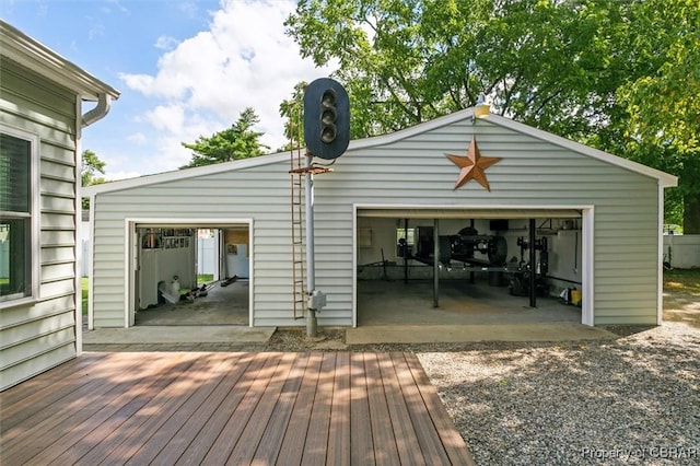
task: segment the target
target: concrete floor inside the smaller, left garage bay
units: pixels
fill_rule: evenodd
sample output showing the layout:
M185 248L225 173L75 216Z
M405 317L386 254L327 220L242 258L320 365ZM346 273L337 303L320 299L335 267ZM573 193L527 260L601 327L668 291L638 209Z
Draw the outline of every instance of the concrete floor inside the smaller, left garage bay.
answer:
M165 303L136 313L136 325L190 326L190 325L248 325L248 280L221 287L217 282L207 295L195 301Z

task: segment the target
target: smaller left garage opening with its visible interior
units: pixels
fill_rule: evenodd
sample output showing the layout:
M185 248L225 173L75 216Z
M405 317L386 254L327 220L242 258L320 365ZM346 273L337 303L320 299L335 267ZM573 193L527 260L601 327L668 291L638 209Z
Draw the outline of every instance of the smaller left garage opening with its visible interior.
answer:
M137 223L131 325L249 325L248 224Z

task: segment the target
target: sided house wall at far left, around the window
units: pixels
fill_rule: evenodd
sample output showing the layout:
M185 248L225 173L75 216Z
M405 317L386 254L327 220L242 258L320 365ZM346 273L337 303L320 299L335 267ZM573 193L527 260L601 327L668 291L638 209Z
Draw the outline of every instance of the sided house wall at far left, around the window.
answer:
M74 93L4 57L0 60L0 121L40 138L39 295L35 304L0 310L0 389L3 389L77 354L78 105Z

